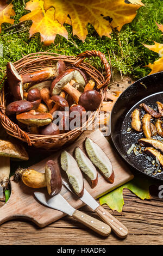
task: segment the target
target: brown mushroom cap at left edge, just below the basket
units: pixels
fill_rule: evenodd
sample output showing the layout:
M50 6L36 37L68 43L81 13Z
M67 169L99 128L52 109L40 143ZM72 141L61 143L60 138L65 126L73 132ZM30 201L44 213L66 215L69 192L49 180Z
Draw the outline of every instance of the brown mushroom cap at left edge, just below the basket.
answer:
M0 139L0 156L8 156L21 160L28 160L28 154L23 145L16 140L4 141Z

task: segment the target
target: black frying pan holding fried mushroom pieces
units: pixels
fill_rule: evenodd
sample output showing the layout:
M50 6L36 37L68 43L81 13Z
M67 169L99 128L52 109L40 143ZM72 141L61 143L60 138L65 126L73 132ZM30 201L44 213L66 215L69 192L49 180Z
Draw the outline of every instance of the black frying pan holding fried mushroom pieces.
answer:
M145 102L148 106L157 110L156 101L163 102L163 72L143 77L131 84L118 97L111 111L111 138L118 153L130 166L144 174L146 174L144 172L146 168L152 167L152 163L145 157L147 155L139 154L135 156L134 153L127 155L127 150L131 144L138 144L137 140L145 136L143 136L143 133L135 132L133 129L127 132L127 129L131 127L130 114L136 107L139 108L140 103ZM146 175L163 180L163 172L156 175Z

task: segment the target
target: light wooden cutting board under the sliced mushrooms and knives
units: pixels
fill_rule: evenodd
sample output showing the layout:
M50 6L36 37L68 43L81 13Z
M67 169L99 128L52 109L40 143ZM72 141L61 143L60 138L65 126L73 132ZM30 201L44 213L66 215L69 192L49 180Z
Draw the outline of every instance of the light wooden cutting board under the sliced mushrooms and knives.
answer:
M98 184L93 189L84 179L84 185L86 190L89 191L94 198L98 198L106 192L114 190L114 188L121 186L122 184L134 178L133 174L131 174L128 167L126 166L126 163L124 163L122 159L117 155L117 153L111 147L101 131L96 130L87 137L95 141L99 145L99 147L103 149L106 155L108 155L115 173L115 181L113 184L110 184L98 172ZM71 154L73 154L74 148L76 148L77 146L84 150L84 140L85 137L79 139L66 150ZM58 153L53 154L47 159L34 164L31 168L43 173L45 172L46 161L49 159L59 159L60 154L61 151L58 151ZM13 176L11 176L10 182L11 196L8 202L0 209L0 224L14 218L26 218L36 223L39 227L45 227L49 223L57 221L59 218L66 215L61 211L47 208L46 206L43 206L42 204L37 202L37 200L34 198L35 190L33 188L27 187L22 182L14 182ZM43 188L43 190L44 189L46 188ZM60 193L74 208L78 209L84 205L81 200L79 200L71 192L67 191L64 186L62 186L62 190Z

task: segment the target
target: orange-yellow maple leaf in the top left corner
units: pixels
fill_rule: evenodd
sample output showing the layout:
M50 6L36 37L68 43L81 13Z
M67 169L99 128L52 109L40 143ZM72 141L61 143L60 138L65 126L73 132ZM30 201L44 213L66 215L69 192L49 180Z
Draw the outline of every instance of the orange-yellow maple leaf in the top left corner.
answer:
M10 3L9 5L5 0L0 1L0 33L1 33L1 24L4 22L14 24L14 19L11 19L11 16L15 15L14 9L12 9L13 5Z

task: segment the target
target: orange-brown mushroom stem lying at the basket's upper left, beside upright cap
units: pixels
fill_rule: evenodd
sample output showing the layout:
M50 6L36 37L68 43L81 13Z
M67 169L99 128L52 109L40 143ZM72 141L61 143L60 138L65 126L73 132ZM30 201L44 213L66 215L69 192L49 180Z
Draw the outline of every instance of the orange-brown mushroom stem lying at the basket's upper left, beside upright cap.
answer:
M41 82L48 79L53 79L57 75L57 70L54 68L41 69L32 73L20 75L22 83Z

